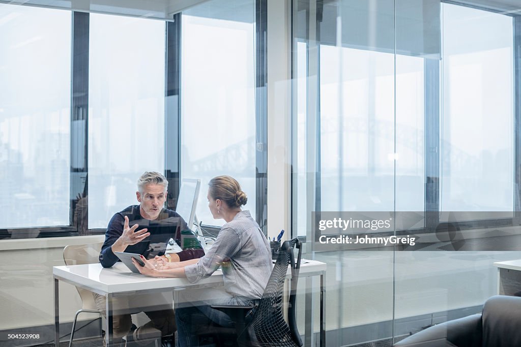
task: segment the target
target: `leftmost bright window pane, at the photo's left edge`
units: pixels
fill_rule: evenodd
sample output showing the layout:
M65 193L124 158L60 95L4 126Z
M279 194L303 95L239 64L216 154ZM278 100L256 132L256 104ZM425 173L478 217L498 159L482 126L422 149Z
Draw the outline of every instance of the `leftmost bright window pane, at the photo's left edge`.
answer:
M69 225L70 11L0 4L0 228Z

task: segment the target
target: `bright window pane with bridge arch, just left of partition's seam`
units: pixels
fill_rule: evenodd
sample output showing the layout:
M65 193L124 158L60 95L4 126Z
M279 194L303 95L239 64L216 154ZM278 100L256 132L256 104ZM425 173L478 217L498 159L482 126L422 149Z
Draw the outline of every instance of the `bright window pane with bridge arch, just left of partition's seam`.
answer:
M394 55L320 46L321 211L394 210Z

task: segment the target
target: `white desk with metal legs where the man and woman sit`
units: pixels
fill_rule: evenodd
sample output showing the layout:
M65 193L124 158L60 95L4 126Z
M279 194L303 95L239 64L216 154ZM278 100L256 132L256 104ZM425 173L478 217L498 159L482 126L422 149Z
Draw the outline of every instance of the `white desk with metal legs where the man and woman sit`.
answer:
M299 277L320 276L320 346L325 346L324 300L326 264L318 261L302 261ZM288 267L288 277L291 269ZM222 273L216 271L212 276L196 284L185 278L154 278L132 273L124 264L118 262L111 268L103 268L101 264L85 264L70 266L54 266L54 343L59 346L59 292L58 281L105 295L107 298L107 327L105 338L107 347L113 344L112 299L120 295L134 295L138 292L168 292L186 288L203 288L222 286ZM306 302L311 297L311 288L306 286ZM314 305L310 305L314 306ZM313 341L313 307L306 307L305 345L311 346Z

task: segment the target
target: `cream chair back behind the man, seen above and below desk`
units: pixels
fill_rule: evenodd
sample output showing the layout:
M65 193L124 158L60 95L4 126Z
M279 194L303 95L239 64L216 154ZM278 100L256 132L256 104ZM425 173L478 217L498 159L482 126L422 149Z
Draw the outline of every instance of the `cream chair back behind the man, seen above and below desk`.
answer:
M103 242L88 245L69 245L64 248L65 265L94 264L100 262L100 251ZM96 310L92 292L76 287L84 310Z

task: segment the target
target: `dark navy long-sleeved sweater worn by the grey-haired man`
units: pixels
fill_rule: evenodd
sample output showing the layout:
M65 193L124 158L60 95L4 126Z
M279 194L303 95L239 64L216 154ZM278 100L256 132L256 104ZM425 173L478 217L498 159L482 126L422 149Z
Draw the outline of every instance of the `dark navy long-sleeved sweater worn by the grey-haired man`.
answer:
M100 253L100 263L103 267L111 267L116 262L119 261L119 258L114 254L112 251L112 245L114 245L114 242L123 234L123 224L125 223L125 216L129 219L129 225L132 226L135 223L132 223L133 221L144 221L143 216L141 216L139 205L132 205L127 207L125 210L116 213L112 219L110 219L110 222L107 226L107 232L105 233L105 243L103 243L103 247L101 249ZM175 239L177 244L181 246L181 230L189 230L187 223L182 219L182 217L175 211L163 209L159 213L159 216L157 217L157 220L150 221L150 222L160 222L162 220L169 219L170 217L178 217L179 218L179 224L180 227L177 228L177 230L173 229L171 230L171 238ZM138 223L139 224L139 223ZM143 223L144 224L144 223ZM157 223L150 223L150 225L143 225L143 227L146 227L148 229L148 232L150 232L151 236L155 233L159 233L159 227L154 226L158 225ZM139 229L142 229L142 225L140 224ZM160 232L164 232L164 228L161 228ZM174 235L175 234L175 235ZM125 252L127 253L138 253L142 254L145 258L148 259L148 255L150 253L150 250L148 250L148 246L150 244L150 238L151 236L146 237L141 242L136 243L135 245L130 245L125 249ZM165 240L166 241L166 240ZM183 249L181 252L177 253L179 255L179 261L185 261L189 259L194 258L201 258L204 255L204 250L201 244L199 244L199 247L193 247L188 249Z

